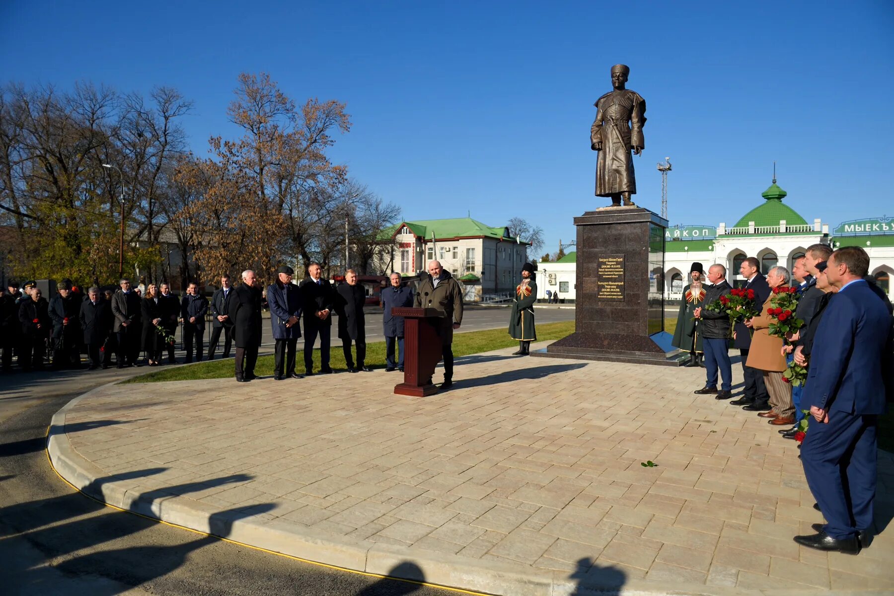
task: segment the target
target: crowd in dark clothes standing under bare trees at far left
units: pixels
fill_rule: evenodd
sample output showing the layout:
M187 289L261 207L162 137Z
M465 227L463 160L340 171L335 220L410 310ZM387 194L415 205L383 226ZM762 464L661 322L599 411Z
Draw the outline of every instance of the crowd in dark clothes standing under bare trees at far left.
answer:
M19 284L10 281L0 289L0 349L4 373L29 372L46 368L80 368L82 353L90 370L147 364L173 364L174 335L182 324L185 362L205 356L204 334L207 298L190 283L179 298L167 283L150 283L145 291L131 288L122 279L117 291L90 287L86 293L63 280L54 296L43 296L34 281ZM223 357L229 357L232 329L225 324L226 308L232 286L224 275L221 289L210 305L211 342L207 357L213 358L221 333ZM145 360L141 359L145 354ZM114 362L113 362L114 356Z

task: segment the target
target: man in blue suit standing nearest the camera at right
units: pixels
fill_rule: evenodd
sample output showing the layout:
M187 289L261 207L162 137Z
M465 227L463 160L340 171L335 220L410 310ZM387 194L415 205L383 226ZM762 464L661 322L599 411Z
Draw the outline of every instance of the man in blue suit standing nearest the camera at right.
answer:
M803 396L813 420L801 463L828 523L795 541L856 554L873 528L876 429L885 410L882 362L891 315L863 279L869 256L862 248L839 248L826 265L826 276L839 291L814 338Z

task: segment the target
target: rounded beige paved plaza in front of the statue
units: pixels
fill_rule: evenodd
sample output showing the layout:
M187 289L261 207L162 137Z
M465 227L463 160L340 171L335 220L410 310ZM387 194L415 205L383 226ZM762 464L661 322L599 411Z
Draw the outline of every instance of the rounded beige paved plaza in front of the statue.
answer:
M792 541L822 522L797 443L694 395L701 369L511 351L458 358L428 398L393 395L383 370L106 385L55 416L50 452L118 507L371 573L413 561L473 591L894 590L890 528L857 557ZM884 452L877 503L883 530Z

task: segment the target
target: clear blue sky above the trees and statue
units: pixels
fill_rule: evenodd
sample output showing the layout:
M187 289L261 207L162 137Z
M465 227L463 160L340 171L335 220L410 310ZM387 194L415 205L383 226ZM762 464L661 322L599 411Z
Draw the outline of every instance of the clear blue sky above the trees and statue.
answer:
M0 4L0 80L181 90L191 147L232 136L241 71L345 102L331 153L404 217L574 238L594 197L595 99L614 63L645 97L637 203L732 225L772 162L808 221L894 215L894 3L41 2Z

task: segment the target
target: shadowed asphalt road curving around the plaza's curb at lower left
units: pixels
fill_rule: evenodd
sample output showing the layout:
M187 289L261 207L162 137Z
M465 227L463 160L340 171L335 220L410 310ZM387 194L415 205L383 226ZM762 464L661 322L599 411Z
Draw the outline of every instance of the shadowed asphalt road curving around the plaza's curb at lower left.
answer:
M126 374L142 372L131 370ZM89 384L107 382L112 372L102 373L101 381L99 376L77 374L63 376L54 384L56 374L0 377L0 590L4 596L457 593L303 563L160 524L84 497L63 483L49 465L46 427L69 399L89 389ZM10 389L11 385L19 389ZM61 388L76 392L61 394Z

